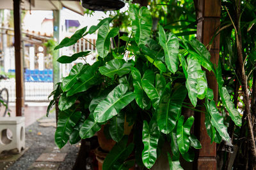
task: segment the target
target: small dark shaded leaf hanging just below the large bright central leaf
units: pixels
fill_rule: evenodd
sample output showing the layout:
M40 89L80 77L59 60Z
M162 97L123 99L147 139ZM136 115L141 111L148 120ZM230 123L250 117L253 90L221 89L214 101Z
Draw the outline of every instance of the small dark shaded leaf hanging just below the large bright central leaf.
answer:
M109 134L116 142L119 142L124 136L124 120L125 116L122 113L109 120Z

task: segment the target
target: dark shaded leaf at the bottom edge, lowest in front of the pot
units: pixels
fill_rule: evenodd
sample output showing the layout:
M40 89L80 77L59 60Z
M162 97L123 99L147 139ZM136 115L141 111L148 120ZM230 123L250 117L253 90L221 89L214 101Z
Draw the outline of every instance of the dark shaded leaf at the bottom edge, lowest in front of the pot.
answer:
M125 159L129 157L134 148L134 144L130 143L127 146L128 136L124 136L120 142L113 146L112 150L104 159L102 170L119 169L124 164Z

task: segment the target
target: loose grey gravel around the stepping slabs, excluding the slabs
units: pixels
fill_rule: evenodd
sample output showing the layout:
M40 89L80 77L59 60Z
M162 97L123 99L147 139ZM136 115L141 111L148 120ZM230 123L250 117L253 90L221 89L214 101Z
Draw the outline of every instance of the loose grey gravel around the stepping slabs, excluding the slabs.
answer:
M54 118L55 113L51 113L49 118ZM42 117L41 119L45 119ZM33 162L45 151L46 148L54 148L54 133L55 127L40 127L38 122L35 122L29 127L26 127L26 148L28 150L8 169L10 170L25 170L28 169ZM76 145L67 144L67 156L58 169L72 169L79 148ZM66 150L66 149L65 149Z

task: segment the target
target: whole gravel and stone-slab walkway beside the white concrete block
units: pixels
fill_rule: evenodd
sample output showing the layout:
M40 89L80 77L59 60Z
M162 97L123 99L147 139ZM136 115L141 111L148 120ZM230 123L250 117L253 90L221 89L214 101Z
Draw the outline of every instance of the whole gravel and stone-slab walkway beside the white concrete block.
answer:
M20 154L2 153L0 169L72 169L79 151L79 144L67 144L61 150L56 147L54 143L55 113L51 113L47 118L44 116L45 111L45 106L26 108L26 149ZM38 117L42 118L39 122L35 122Z

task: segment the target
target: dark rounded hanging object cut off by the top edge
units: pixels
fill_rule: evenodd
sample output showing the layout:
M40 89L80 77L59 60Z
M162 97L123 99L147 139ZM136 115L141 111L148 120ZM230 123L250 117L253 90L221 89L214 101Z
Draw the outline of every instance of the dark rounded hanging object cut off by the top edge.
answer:
M81 0L82 6L92 11L113 11L125 6L124 0Z

